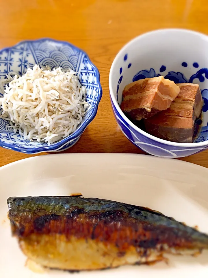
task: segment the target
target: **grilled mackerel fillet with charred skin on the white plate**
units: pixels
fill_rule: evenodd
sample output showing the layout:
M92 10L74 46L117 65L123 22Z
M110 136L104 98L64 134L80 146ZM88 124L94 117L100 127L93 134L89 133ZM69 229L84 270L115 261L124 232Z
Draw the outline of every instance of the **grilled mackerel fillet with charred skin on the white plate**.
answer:
M208 248L206 234L144 207L64 196L7 202L12 234L25 255L52 268L109 268Z

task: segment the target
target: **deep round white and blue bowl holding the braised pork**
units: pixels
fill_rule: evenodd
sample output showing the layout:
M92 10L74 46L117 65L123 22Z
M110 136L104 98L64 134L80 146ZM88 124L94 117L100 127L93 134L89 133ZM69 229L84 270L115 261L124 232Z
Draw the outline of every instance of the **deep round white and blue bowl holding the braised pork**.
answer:
M204 106L194 143L176 143L152 136L121 111L122 91L132 81L163 75L175 83L197 83ZM190 156L208 147L208 36L183 29L162 29L136 37L114 59L109 74L110 98L116 121L137 147L159 157Z

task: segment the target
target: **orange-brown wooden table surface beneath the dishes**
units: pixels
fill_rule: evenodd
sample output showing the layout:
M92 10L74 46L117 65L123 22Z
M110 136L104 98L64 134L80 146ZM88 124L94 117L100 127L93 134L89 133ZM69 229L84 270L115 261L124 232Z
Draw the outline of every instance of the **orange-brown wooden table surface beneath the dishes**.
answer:
M96 118L66 152L143 153L123 135L112 113L108 76L113 59L125 43L150 30L208 34L207 14L207 0L1 0L0 48L49 37L85 50L100 71L103 97ZM0 166L27 157L0 148ZM208 150L183 160L208 167Z

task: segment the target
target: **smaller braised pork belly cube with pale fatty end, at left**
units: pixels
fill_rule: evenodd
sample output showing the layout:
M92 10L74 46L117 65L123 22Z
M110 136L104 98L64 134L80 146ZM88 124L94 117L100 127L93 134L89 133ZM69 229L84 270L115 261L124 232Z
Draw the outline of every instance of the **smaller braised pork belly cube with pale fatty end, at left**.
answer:
M123 90L122 111L132 120L147 119L170 107L179 86L163 76L130 83Z

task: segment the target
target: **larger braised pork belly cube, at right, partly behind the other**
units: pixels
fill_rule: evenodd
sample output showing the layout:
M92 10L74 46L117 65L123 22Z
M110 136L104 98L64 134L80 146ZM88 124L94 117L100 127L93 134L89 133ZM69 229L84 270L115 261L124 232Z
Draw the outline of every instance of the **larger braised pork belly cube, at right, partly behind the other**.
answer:
M192 143L194 123L203 107L201 91L198 84L177 85L180 92L170 108L144 120L145 129L153 136L164 140Z

